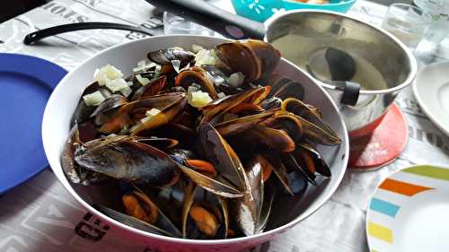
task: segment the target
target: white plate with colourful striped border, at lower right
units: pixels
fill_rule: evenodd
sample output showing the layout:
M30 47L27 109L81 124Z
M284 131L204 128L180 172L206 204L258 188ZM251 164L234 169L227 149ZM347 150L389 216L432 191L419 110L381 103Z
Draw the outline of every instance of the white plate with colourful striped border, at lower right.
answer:
M412 166L393 173L366 214L371 252L449 251L449 168Z

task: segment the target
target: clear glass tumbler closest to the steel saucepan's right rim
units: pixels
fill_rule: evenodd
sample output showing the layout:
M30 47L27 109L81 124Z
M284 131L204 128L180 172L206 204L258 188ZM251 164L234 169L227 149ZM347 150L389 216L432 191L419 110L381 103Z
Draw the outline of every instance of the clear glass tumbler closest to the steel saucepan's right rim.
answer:
M430 15L410 4L391 4L383 18L382 28L400 39L407 47L416 48L432 22Z

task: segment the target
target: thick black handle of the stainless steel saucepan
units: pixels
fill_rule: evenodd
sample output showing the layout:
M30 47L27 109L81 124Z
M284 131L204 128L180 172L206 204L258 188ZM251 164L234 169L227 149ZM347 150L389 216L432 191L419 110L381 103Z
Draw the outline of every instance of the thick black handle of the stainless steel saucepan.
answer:
M263 39L261 22L228 13L202 0L145 0L156 8L197 22L230 39Z

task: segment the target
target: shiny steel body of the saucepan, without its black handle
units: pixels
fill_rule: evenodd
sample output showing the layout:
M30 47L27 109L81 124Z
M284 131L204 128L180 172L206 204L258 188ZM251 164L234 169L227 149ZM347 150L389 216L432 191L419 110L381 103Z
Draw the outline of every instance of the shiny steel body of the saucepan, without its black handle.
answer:
M285 26L294 26L295 30L286 30ZM348 131L374 123L417 73L416 60L401 41L383 30L338 13L285 13L270 22L267 39L295 65L313 69L313 75L320 80L350 81L361 85L356 106L339 104ZM344 56L330 60L326 57L330 48L352 56L354 74L339 73L340 76L348 75L339 79L332 73L335 62L340 64L341 72L344 69L341 64L348 60ZM354 63L349 61L346 65L351 64ZM321 86L339 103L342 91L330 82L322 82Z

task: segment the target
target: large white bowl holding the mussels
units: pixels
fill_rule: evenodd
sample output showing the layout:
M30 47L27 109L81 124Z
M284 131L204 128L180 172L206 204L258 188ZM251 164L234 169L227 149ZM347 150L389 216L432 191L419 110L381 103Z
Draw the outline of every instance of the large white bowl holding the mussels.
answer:
M304 100L321 108L324 119L342 138L342 143L337 147L320 146L319 148L323 157L329 161L332 177L330 179L318 179L318 186L308 187L301 201L296 202L296 204L292 204L292 201L287 199L278 198L282 201L282 204L277 204L274 213L272 213L273 218L271 218L268 229L264 233L238 239L193 240L174 239L136 230L110 219L92 207L92 203L101 204L99 201L110 197L110 193L103 192L99 196L99 192L92 190L92 187L72 185L66 179L59 162L59 156L69 133L70 118L75 111L84 87L92 82L92 74L96 68L111 64L121 69L124 74L130 74L130 69L145 58L149 51L174 46L190 48L192 44L213 48L224 41L225 39L213 37L176 35L153 37L122 44L102 51L84 61L79 67L67 74L51 94L42 123L44 148L51 168L77 202L91 213L98 215L102 221L107 222L124 239L145 243L146 246L153 248L155 251L241 251L244 248L250 248L273 239L277 234L291 229L324 204L339 186L348 164L348 134L343 120L330 96L317 83L314 83L308 74L284 59L277 65L277 74L304 85Z

